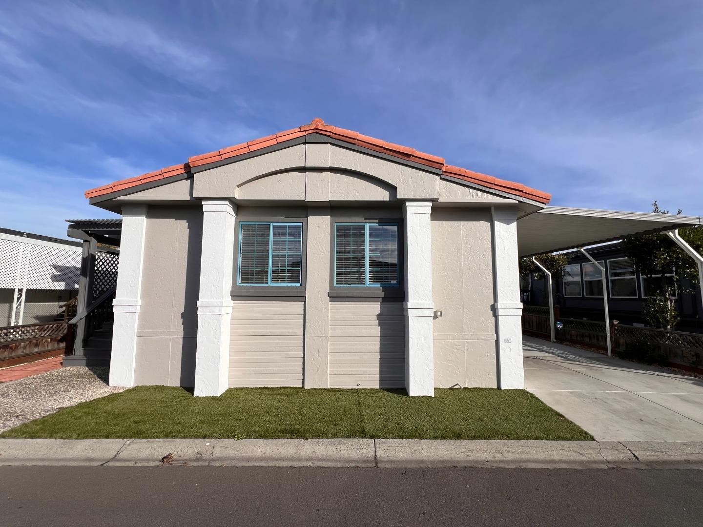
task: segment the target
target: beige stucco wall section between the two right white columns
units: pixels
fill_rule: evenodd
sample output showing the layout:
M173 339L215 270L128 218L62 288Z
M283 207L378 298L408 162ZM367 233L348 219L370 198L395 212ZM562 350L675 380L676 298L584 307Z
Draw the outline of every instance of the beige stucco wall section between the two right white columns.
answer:
M493 284L490 209L433 209L435 386L497 386Z

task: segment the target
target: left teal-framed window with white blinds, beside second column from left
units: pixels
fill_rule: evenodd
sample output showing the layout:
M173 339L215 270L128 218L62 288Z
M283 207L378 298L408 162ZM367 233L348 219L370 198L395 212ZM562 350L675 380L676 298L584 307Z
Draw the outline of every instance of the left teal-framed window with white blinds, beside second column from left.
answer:
M302 223L239 224L238 285L300 285Z

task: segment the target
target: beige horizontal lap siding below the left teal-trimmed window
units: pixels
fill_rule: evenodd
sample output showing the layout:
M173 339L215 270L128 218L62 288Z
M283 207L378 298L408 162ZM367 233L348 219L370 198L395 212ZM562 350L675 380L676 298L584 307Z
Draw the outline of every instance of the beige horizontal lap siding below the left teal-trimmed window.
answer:
M236 301L229 386L302 386L304 303Z

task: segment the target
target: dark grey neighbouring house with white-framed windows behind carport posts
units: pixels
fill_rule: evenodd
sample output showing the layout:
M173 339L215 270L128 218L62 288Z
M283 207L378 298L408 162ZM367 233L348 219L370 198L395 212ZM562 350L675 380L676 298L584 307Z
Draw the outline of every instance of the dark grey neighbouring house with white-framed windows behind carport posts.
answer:
M620 242L588 249L593 259L606 271L606 289L610 318L624 324L646 324L642 312L647 299L649 279L634 270ZM564 318L603 320L603 292L600 271L581 252L567 253L569 263L562 276L555 280L555 306L560 306ZM677 328L681 331L703 330L703 306L699 286L689 280L674 280L673 272L664 273L672 292L671 300L681 316ZM657 279L659 279L657 276ZM527 304L548 305L546 279L524 277L521 291Z

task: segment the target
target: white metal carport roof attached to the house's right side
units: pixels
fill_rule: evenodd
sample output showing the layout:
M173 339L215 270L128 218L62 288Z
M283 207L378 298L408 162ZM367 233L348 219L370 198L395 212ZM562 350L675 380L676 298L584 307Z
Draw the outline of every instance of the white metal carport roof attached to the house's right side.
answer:
M699 216L545 207L517 221L517 247L532 256L701 223Z

